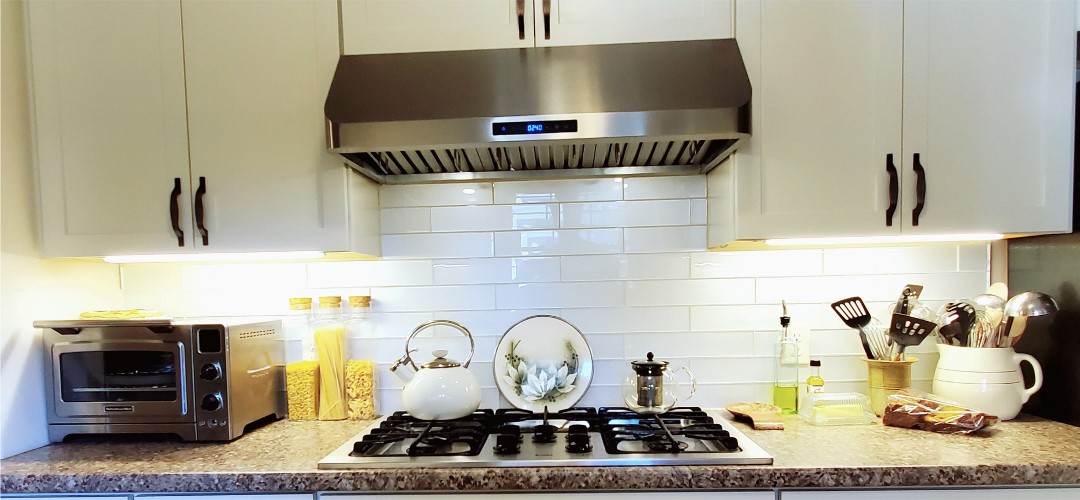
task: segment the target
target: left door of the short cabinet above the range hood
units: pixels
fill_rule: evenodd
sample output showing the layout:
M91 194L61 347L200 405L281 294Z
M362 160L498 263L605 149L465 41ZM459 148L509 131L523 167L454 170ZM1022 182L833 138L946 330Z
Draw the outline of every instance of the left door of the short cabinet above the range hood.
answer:
M532 0L341 0L341 29L346 55L532 46Z

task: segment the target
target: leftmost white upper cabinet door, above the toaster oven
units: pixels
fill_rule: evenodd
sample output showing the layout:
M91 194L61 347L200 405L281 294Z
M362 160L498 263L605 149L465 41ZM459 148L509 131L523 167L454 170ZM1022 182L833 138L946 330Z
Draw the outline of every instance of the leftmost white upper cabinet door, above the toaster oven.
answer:
M192 249L179 0L27 9L45 256Z

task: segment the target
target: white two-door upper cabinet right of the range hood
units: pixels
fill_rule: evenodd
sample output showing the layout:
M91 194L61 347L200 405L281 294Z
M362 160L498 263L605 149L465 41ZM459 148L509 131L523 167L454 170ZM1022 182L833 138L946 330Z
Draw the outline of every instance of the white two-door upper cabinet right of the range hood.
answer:
M753 135L720 174L733 230L710 244L1068 231L1074 9L739 1Z

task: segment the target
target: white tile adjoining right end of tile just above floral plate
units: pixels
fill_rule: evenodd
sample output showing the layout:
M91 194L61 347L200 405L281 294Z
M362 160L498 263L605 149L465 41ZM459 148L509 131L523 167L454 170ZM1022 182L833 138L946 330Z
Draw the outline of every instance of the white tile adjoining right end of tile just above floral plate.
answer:
M754 280L657 280L626 283L627 306L754 303Z

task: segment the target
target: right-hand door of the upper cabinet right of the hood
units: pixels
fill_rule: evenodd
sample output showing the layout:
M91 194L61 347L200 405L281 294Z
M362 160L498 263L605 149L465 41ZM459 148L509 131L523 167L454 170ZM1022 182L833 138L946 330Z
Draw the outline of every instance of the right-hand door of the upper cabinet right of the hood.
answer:
M1076 4L912 0L904 9L905 232L1070 230Z

